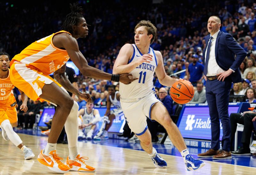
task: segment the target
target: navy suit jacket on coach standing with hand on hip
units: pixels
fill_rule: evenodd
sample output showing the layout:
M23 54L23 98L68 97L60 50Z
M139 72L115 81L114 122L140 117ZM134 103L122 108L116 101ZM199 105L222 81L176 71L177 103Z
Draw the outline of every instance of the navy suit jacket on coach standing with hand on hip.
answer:
M206 47L210 39L210 34L205 37ZM203 51L203 64L205 64L205 50ZM236 54L236 59L235 59ZM239 66L243 62L247 53L245 50L233 39L233 37L224 32L219 32L215 43L215 58L217 64L221 69L227 71L229 68L235 72L231 73L231 80L234 83L242 81ZM210 66L210 65L208 65Z

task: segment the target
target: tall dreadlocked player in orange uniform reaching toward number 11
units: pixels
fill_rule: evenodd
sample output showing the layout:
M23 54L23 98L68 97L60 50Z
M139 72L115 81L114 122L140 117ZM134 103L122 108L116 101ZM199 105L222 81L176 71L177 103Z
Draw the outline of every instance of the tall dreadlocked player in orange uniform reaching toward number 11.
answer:
M120 81L129 84L132 75L109 74L88 65L83 54L79 51L76 39L85 38L88 28L81 7L78 3L71 5L71 13L67 15L62 30L33 42L11 63L11 81L32 100L46 100L56 104L52 118L52 127L46 147L41 151L37 160L53 171L65 173L69 170L93 172L95 168L85 164L83 157L78 154L78 104L68 95L66 90L90 103L90 94L82 94L72 86L65 75L66 62L69 57L84 76ZM53 80L49 74L54 72ZM62 87L61 87L62 86ZM65 89L66 90L65 90ZM69 156L63 164L56 154L56 142L65 124L68 137Z

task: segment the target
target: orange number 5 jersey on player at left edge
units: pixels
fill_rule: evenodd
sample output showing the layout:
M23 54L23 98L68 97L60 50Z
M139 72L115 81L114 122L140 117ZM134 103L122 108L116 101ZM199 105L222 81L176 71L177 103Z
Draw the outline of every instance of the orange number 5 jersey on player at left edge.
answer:
M13 88L14 86L10 80L10 69L8 69L8 77L0 79L0 105L13 103Z

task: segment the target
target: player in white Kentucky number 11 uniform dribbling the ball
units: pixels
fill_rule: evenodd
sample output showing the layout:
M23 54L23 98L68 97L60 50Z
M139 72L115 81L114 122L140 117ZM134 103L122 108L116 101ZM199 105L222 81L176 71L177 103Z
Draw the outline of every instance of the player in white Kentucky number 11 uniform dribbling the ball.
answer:
M156 38L156 30L150 21L140 21L134 30L135 44L125 44L118 54L113 73L131 73L134 78L139 78L128 85L120 83L121 106L129 127L140 139L141 147L152 158L157 168L165 168L167 163L152 147L146 117L164 126L172 143L180 151L187 170L198 170L204 166L204 162L189 154L178 127L154 92L155 72L164 86L171 87L178 81L166 75L161 52L149 47Z

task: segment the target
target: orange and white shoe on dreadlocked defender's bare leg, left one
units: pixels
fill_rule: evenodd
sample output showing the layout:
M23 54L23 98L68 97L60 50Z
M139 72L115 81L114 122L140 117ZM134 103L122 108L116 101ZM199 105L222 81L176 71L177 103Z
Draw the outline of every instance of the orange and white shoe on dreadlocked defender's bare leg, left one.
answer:
M56 150L51 151L49 154L44 154L44 149L41 150L40 154L37 157L37 161L41 164L47 166L50 170L65 173L70 169L67 165L63 164L60 160L63 158L59 157L56 154Z

